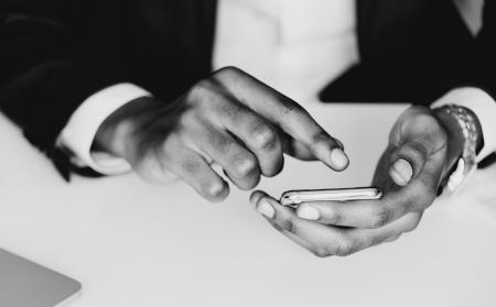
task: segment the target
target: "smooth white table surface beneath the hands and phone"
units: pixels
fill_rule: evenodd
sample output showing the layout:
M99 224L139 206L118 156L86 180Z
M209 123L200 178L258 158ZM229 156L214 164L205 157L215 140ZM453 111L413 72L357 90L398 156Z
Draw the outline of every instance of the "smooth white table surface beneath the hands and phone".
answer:
M260 187L368 185L403 109L311 108L344 141L349 169L288 158ZM0 140L0 246L82 282L71 306L496 306L496 219L476 209L496 206L496 167L400 240L317 259L268 226L248 193L211 205L181 183L133 175L66 184L4 118Z

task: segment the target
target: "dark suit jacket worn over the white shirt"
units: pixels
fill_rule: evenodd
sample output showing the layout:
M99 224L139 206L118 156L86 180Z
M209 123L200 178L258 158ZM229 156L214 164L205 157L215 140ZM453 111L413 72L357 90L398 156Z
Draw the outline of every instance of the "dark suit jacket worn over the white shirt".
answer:
M358 0L360 64L323 99L428 103L463 85L496 94L496 2L486 2L473 37L452 0ZM216 4L0 0L0 107L67 175L54 142L89 95L131 81L168 102L211 73Z

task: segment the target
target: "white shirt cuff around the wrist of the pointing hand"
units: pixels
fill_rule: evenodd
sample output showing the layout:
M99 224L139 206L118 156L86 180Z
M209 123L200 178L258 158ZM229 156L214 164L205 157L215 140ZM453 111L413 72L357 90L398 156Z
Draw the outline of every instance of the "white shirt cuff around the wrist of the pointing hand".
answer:
M72 114L57 139L57 145L69 150L73 163L88 166L104 175L129 172L131 166L123 158L107 153L91 152L98 128L117 109L144 96L147 90L132 84L117 84L87 98Z

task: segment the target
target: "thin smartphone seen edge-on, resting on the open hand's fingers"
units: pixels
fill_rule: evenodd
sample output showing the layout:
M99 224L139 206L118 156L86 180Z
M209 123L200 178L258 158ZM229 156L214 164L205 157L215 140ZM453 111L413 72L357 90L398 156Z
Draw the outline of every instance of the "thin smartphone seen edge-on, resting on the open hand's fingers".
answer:
M382 190L377 187L335 188L335 189L300 189L288 190L281 196L281 205L298 206L301 202L326 200L370 200L380 199Z

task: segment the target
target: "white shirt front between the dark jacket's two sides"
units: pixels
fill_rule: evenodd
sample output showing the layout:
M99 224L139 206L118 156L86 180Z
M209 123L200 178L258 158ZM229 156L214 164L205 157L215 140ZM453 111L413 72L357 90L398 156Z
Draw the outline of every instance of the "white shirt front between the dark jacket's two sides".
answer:
M355 0L219 0L214 69L237 66L306 103L358 62Z

